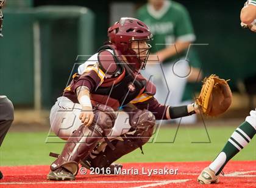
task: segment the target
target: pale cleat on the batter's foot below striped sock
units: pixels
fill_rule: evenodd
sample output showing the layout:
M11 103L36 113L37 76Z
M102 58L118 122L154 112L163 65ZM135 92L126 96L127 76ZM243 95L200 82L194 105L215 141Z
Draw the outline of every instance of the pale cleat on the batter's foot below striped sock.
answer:
M197 181L200 184L216 184L219 183L219 175L216 176L213 170L211 170L209 167L206 167L197 177Z

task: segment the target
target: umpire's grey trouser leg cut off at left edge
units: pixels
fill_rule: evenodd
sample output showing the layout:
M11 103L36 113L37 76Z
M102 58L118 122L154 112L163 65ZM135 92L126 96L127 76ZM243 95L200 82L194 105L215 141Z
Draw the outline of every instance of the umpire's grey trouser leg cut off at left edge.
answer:
M0 147L13 121L13 105L7 96L0 95Z

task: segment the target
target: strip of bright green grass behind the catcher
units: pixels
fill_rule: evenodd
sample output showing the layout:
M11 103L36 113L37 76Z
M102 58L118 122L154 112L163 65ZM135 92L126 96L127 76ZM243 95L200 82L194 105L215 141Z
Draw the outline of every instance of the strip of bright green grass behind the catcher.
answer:
M211 161L221 151L235 127L207 127L211 143L204 127L162 128L155 133L151 143L143 146L144 155L140 149L129 153L119 162L161 162L161 161ZM54 158L49 152L60 153L63 141L59 138L48 139L48 133L8 133L0 149L0 165L16 166L31 164L51 164ZM174 139L175 138L175 139ZM55 141L55 143L49 143ZM174 141L174 142L173 142ZM60 143L57 143L60 142ZM251 143L233 158L234 160L255 160L256 142Z

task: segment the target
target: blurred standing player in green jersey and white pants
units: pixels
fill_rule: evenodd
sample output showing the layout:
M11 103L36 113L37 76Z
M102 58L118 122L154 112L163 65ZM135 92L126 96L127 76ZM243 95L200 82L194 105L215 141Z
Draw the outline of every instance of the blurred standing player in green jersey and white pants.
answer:
M157 86L155 98L172 106L190 104L193 90L191 85L186 88L187 82L196 82L198 76L198 80L201 80L202 75L199 58L192 47L187 54L188 47L196 36L186 8L175 1L148 0L148 4L137 11L137 18L149 25L154 35L148 67L142 74L148 79L153 76L151 81ZM156 61L157 58L159 61ZM169 96L166 82L170 90ZM185 90L187 93L183 96ZM183 103L182 99L185 99ZM179 120L176 119L178 122ZM196 116L182 118L182 123L195 121Z

